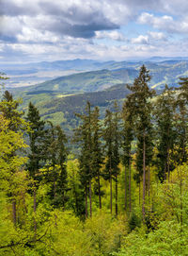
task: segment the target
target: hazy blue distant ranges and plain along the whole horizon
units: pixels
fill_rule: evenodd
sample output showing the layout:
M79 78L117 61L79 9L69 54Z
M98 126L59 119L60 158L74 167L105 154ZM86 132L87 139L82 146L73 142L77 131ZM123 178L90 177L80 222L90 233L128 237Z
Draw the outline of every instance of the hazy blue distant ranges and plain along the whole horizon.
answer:
M149 60L139 61L97 61L97 60L57 60L42 61L26 64L0 63L0 71L10 77L7 82L8 87L28 86L39 84L41 82L54 80L57 77L68 75L108 70L116 72L117 70L132 69L134 75L137 75L138 69L145 64L153 77L151 83L153 86L163 87L165 83L170 86L176 85L181 76L188 75L188 58L162 58L153 57ZM82 75L85 76L85 75ZM134 77L133 77L134 78ZM118 78L119 82L127 82L126 79ZM131 79L131 82L133 79Z

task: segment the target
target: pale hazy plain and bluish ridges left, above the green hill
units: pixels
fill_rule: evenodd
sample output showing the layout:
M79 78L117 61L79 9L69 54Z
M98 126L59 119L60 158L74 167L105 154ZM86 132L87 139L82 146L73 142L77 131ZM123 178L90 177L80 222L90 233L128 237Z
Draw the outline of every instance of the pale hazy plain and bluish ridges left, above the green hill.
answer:
M0 71L10 79L8 87L29 86L55 77L67 76L83 71L102 69L115 61L100 62L96 60L56 60L32 63L1 63Z

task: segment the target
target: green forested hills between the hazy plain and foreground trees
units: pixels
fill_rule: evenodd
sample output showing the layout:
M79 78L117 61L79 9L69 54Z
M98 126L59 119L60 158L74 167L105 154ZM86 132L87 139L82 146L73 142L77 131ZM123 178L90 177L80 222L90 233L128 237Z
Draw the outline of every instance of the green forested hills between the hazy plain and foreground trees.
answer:
M111 106L113 99L121 101L127 94L125 84L133 82L141 64L141 62L110 61L106 62L109 69L57 77L37 85L10 89L10 91L15 97L23 98L21 108L24 111L31 101L39 108L44 119L50 119L56 124L61 123L64 129L70 131L76 125L74 112L84 111L87 100L94 106L102 107L102 116L105 109ZM148 61L145 64L152 77L149 86L155 90L161 90L165 83L177 86L179 77L188 74L186 60Z

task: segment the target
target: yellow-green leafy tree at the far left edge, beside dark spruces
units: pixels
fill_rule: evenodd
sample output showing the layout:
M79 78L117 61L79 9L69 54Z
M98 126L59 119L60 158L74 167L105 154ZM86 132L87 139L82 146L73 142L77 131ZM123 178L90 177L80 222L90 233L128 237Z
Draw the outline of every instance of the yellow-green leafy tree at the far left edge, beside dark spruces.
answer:
M23 133L9 129L9 122L0 114L0 192L1 196L6 194L7 200L12 204L12 220L15 226L18 223L18 212L21 210L17 205L20 181L18 176L24 173L21 170L25 162L25 158L17 154L17 151L26 145Z

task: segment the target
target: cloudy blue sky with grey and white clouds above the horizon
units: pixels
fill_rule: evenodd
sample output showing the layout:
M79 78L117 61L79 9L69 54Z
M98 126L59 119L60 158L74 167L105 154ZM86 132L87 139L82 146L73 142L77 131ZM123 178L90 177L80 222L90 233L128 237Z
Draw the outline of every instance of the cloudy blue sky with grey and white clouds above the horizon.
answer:
M188 56L187 0L0 0L0 62Z

